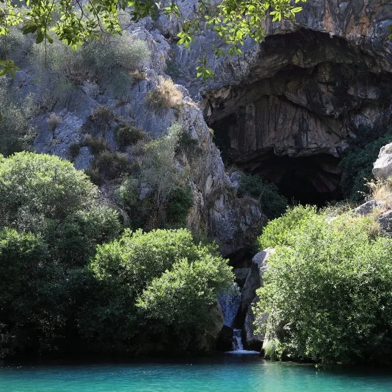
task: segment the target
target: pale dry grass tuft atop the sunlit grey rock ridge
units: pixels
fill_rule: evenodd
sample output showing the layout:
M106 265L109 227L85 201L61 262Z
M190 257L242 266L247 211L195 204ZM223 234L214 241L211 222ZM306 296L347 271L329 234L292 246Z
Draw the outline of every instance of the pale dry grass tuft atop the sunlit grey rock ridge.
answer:
M146 96L147 102L154 109L174 108L182 105L183 95L174 86L170 79L162 76L158 78L158 87L149 91Z

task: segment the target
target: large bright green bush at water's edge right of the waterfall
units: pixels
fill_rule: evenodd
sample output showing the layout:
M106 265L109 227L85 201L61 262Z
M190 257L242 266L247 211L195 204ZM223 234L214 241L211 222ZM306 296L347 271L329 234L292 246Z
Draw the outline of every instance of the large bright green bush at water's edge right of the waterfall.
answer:
M310 207L288 216L269 223L283 233L270 243L276 251L257 290L264 329L289 358L390 363L392 239L370 218L326 219ZM285 224L294 221L300 229Z

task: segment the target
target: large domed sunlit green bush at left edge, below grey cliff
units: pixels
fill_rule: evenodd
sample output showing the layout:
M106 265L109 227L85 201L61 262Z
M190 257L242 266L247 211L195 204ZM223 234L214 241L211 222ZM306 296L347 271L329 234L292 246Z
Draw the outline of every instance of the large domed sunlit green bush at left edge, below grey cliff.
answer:
M0 161L0 227L41 233L53 259L83 264L97 243L117 234L117 214L71 162L16 153Z

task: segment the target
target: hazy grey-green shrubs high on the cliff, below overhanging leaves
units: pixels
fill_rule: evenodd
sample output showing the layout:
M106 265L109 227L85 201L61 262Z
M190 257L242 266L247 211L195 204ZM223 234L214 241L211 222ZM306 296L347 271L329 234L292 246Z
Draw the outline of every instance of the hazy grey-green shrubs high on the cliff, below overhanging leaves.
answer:
M133 39L126 31L116 37L105 35L77 50L52 38L51 45L34 44L29 57L42 79L55 76L57 96L69 94L75 84L88 79L89 73L95 73L98 82L106 83L115 94L123 94L133 83L130 72L150 58L146 42Z

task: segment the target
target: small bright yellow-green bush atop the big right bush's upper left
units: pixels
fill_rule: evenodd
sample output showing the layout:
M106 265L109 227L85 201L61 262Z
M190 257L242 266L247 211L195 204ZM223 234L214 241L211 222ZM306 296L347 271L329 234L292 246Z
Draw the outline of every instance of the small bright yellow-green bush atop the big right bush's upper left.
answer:
M316 206L288 207L286 214L270 221L263 228L262 235L257 239L260 250L279 245L289 245L296 235L308 223L310 217L316 214Z

